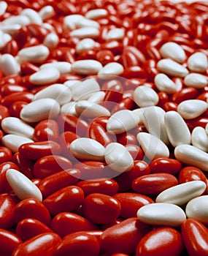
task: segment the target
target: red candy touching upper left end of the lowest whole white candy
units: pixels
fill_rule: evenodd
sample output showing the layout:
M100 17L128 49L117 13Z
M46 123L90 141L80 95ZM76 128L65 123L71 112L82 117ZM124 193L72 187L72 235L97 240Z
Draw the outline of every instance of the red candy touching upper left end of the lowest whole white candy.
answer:
M125 219L136 217L139 208L146 206L149 203L154 203L154 201L146 195L131 192L118 193L113 195L113 197L120 203L120 217Z

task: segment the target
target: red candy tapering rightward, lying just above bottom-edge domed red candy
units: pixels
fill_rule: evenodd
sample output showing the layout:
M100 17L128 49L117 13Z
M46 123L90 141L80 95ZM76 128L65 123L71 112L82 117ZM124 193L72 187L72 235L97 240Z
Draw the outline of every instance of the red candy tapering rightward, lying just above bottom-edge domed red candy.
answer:
M55 215L50 227L61 237L77 231L98 230L93 222L71 212L61 212Z

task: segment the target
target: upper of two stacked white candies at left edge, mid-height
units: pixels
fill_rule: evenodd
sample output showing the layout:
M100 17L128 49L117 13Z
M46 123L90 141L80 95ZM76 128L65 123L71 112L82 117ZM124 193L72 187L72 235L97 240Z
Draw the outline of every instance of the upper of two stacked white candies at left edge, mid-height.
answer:
M1 121L1 128L6 133L20 135L29 139L33 138L34 128L16 117L6 117Z

